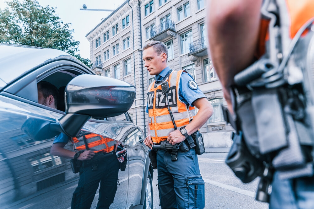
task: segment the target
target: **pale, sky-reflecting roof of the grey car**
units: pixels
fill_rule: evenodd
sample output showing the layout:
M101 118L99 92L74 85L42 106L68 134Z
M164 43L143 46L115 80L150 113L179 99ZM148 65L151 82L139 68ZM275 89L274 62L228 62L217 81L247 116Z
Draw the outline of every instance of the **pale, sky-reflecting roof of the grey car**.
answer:
M0 88L43 63L60 59L71 60L89 70L78 59L61 50L17 44L0 44Z

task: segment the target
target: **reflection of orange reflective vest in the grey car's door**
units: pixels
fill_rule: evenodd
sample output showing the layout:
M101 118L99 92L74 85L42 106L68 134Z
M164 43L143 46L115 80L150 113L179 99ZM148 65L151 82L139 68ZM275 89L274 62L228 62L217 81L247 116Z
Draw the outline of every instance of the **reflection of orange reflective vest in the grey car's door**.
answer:
M72 138L74 149L77 151L86 150L84 137L89 150L94 151L95 153L110 153L114 150L115 140L111 138L105 138L99 134L87 133Z

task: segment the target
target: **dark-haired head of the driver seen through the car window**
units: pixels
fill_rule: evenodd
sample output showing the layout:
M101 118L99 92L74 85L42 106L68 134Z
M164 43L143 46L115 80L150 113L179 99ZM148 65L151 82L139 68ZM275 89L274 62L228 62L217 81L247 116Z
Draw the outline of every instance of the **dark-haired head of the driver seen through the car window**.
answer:
M41 81L37 83L38 103L57 109L58 89L49 82Z

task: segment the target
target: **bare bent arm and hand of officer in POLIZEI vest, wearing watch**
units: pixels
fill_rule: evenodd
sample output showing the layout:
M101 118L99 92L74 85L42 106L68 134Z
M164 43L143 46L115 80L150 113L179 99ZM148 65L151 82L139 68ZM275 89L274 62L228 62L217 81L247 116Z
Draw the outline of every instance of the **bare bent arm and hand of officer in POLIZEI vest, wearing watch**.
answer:
M198 113L193 117L191 123L185 127L188 135L191 135L202 127L214 112L212 105L206 98L199 98L195 100L193 105L198 108ZM169 134L167 140L174 145L184 141L184 139L185 137L181 134L180 130L177 129Z

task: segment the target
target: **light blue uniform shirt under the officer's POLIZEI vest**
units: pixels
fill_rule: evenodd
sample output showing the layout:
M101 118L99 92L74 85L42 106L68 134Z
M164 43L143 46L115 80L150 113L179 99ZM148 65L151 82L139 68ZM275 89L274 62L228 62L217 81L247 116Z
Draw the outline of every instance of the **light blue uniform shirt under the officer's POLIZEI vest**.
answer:
M170 67L166 67L165 69L163 69L159 75L155 76L155 81L161 81L163 78L165 78L165 76L167 75L167 73L170 71ZM190 105L192 107L194 107L193 102L199 98L203 98L205 96L205 94L203 94L203 92L198 88L198 89L192 89L189 87L188 83L190 80L194 79L192 78L192 76L189 73L183 72L181 74L181 80L180 80L180 84L179 84L179 99L184 102L187 105ZM148 104L146 105L146 113L148 113Z

